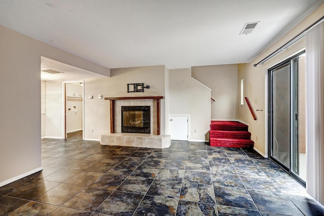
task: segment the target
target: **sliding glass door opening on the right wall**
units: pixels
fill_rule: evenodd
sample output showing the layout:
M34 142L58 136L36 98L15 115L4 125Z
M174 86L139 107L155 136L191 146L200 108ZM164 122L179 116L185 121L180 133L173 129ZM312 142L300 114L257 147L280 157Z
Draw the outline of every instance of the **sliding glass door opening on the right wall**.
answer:
M270 158L306 184L305 51L268 70Z

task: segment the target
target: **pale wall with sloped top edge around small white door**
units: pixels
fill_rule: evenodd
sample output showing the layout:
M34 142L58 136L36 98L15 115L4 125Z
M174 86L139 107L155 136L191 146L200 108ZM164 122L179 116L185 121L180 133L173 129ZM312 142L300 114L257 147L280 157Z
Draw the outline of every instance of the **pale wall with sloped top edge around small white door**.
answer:
M170 114L190 115L190 141L209 140L211 90L191 78L190 68L169 70L169 87Z

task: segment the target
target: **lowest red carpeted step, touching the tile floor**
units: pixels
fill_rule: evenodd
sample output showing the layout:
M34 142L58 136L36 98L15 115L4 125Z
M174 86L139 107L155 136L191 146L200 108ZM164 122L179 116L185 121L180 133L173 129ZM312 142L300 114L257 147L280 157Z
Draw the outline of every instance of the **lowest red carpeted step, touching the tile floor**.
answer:
M254 142L247 139L210 138L209 142L210 146L218 147L245 148L254 146Z

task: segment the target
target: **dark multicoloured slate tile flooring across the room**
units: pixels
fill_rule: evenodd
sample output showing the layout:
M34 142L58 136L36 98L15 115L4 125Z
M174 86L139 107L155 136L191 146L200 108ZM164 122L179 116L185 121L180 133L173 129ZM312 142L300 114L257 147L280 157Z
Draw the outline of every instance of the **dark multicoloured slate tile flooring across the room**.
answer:
M324 215L253 150L42 140L44 170L0 188L0 215Z

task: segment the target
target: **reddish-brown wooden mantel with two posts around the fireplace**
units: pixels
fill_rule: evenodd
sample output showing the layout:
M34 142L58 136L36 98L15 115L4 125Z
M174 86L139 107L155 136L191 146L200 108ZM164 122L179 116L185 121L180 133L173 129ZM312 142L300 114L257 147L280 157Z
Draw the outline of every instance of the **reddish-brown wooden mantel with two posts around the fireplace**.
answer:
M139 100L139 99L152 99L156 100L156 127L157 134L160 135L160 99L164 96L138 96L138 97L108 97L105 100L110 100L110 133L115 133L115 100Z

